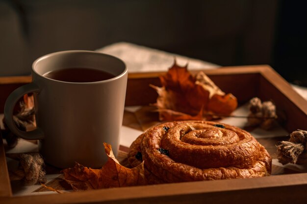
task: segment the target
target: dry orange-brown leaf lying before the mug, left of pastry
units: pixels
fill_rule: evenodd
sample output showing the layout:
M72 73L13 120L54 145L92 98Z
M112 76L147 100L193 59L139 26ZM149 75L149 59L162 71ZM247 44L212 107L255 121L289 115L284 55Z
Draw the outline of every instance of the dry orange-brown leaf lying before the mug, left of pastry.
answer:
M145 185L144 162L129 169L115 158L111 145L103 143L108 160L101 169L84 167L76 162L75 167L62 170L65 181L74 190Z

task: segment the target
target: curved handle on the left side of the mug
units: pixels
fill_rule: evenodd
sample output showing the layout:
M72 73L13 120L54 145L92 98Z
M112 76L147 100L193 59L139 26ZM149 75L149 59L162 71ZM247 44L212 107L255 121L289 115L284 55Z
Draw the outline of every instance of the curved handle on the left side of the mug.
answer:
M21 97L31 92L35 92L35 93L40 92L39 87L33 82L17 88L7 97L5 104L4 104L5 123L9 127L10 131L12 131L16 136L19 136L24 139L42 139L44 137L44 133L40 128L36 127L35 130L28 131L28 132L21 131L17 128L13 120L13 111L14 111L15 104Z

